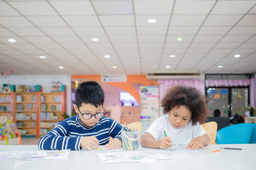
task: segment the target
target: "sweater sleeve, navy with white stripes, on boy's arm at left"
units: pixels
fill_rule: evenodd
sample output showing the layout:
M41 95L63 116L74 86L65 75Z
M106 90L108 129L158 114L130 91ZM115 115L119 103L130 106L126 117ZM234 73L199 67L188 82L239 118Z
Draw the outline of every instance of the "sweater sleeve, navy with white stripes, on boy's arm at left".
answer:
M69 125L65 121L60 122L53 130L43 135L39 142L39 149L72 149L80 150L82 136L69 137Z

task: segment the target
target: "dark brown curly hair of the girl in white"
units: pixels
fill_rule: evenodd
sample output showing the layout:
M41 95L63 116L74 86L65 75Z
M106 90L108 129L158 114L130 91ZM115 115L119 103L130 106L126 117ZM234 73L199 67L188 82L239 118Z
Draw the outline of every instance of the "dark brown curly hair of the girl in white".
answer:
M196 88L178 85L169 89L161 100L164 114L169 113L175 106L186 106L191 111L192 125L197 122L203 124L207 120L206 97Z

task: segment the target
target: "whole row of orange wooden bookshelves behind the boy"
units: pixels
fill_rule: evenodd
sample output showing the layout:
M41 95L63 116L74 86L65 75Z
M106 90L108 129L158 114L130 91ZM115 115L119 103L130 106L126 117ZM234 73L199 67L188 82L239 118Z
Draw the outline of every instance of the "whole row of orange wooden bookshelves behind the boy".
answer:
M11 116L21 136L40 137L63 120L65 88L61 85L60 92L43 93L37 85L36 92L15 92L14 86L10 93L0 93L0 116Z

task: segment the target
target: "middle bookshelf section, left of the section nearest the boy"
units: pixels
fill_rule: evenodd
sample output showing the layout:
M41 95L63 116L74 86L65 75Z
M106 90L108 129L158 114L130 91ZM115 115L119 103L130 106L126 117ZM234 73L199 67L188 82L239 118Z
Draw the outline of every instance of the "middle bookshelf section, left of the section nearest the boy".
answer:
M36 135L36 96L38 93L18 92L15 94L14 120L20 135Z

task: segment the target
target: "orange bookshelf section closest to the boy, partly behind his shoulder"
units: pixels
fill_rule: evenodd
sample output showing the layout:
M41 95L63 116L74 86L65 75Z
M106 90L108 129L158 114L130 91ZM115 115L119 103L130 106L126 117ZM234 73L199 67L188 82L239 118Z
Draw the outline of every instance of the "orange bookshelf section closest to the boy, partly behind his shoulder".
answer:
M40 94L40 135L52 130L66 112L66 91Z

